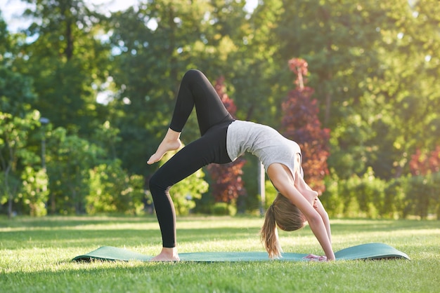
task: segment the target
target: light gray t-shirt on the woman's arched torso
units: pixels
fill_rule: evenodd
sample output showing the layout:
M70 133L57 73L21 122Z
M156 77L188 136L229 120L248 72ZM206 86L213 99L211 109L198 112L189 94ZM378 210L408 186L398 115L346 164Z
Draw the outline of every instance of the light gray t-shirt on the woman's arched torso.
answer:
M295 168L299 168L302 175L301 166L295 166L295 155L301 156L299 145L269 126L250 121L234 121L228 127L226 149L231 161L247 151L259 158L266 172L269 165L281 163L290 169L294 178Z

